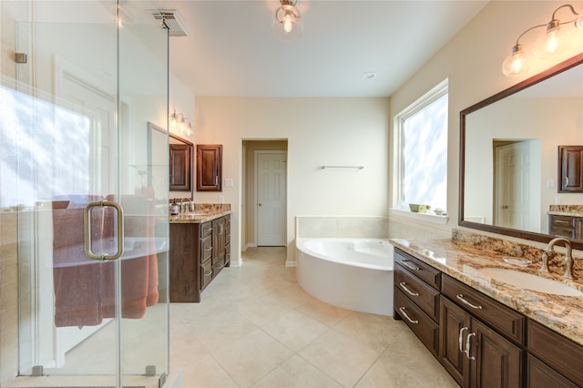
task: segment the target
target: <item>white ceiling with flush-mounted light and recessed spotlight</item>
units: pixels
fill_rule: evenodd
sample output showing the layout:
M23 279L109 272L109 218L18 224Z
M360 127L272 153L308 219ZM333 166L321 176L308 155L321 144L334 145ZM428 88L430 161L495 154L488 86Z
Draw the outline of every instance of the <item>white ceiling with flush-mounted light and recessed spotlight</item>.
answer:
M189 30L170 38L172 73L196 96L233 97L391 96L486 3L298 0L303 36L282 43L277 0L154 2Z

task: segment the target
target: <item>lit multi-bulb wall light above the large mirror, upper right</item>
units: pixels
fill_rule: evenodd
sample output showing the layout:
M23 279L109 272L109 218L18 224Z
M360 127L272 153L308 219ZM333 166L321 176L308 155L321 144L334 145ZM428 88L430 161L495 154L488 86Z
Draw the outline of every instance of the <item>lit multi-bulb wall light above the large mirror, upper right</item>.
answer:
M571 19L567 22L557 19L557 11L562 8L568 8L571 12ZM583 28L583 12L578 13L570 4L559 6L553 11L551 20L546 25L532 26L518 36L516 45L512 47L512 53L502 63L502 72L507 77L517 77L527 73L530 68L530 57L520 44L520 38L527 32L546 27L546 34L538 37L533 52L539 58L547 58L560 53L575 40L571 36L573 28L568 26L571 24L578 29Z

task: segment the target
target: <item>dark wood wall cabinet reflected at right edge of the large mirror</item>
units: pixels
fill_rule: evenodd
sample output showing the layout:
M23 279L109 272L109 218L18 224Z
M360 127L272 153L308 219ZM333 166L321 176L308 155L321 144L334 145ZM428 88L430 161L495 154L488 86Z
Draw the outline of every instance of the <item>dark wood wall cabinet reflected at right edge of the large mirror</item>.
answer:
M583 192L583 146L558 146L559 193Z

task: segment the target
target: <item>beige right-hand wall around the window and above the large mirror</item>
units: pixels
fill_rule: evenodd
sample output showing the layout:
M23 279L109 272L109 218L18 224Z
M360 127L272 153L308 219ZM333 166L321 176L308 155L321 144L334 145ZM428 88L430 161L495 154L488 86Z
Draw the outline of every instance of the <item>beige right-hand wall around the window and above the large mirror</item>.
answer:
M480 14L476 15L458 35L391 97L390 116L394 117L440 81L449 79L447 146L449 220L443 226L426 224L418 220L414 222L406 219L390 220L390 235L393 237L439 237L447 235L452 228L457 227L459 112L581 51L581 46L574 46L571 51L560 57L538 61L533 64L527 77L510 78L502 74L502 62L515 45L517 37L530 26L547 23L555 8L563 4L563 2L555 1L492 1L488 3ZM578 10L583 8L583 2L571 4ZM567 14L559 14L559 18L568 18L570 15L568 11L566 12ZM521 39L525 49L532 47L537 32L527 34ZM394 147L393 143L392 147ZM392 170L391 179L393 179Z

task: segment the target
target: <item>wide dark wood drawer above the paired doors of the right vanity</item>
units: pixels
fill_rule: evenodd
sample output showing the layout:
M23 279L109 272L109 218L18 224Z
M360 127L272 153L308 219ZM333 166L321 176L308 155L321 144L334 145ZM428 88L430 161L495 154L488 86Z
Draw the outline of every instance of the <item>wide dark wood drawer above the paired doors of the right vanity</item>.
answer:
M525 343L526 318L517 311L447 275L443 276L441 291L457 305L505 334L508 339L518 344Z

